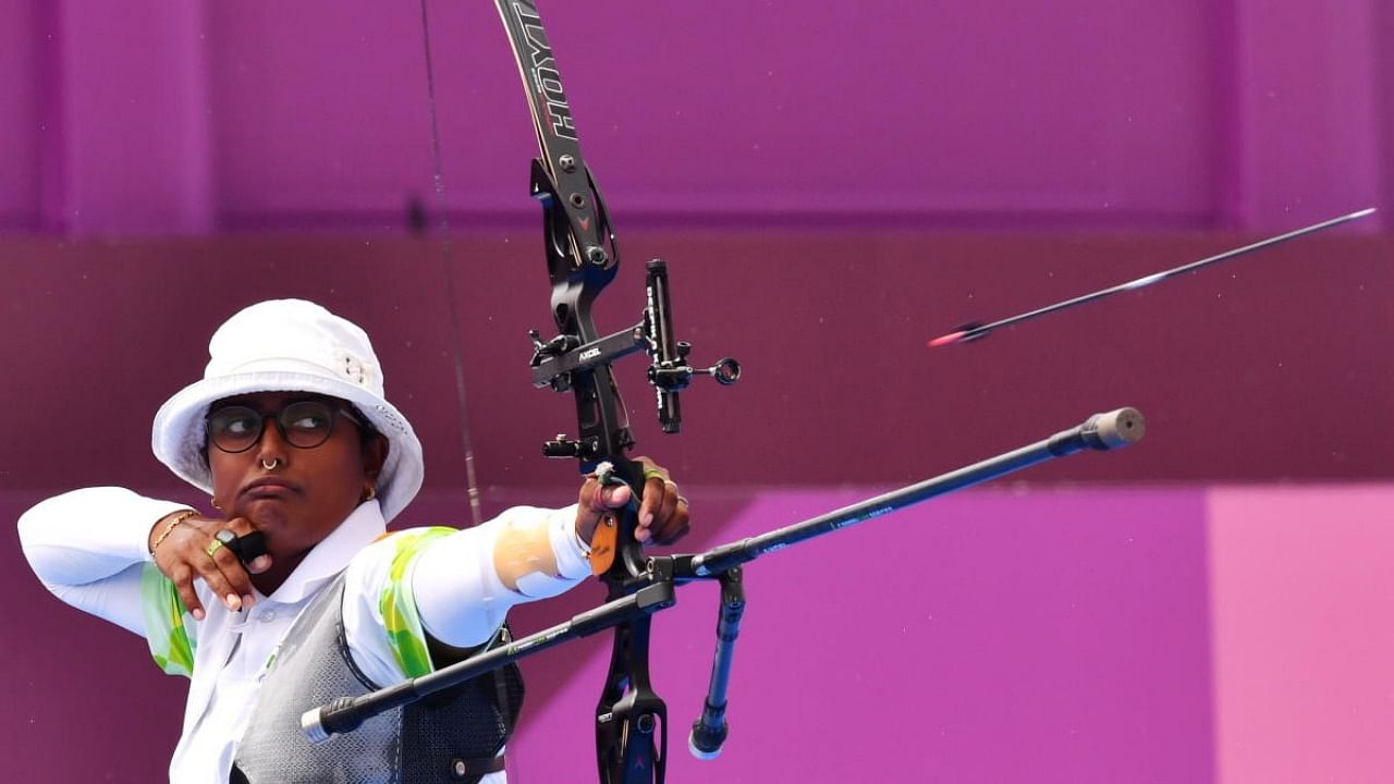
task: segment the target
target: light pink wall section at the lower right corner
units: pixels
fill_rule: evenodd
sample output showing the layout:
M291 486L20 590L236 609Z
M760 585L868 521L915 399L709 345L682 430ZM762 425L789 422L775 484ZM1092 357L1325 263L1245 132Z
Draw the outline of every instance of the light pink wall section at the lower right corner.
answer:
M1209 492L1218 784L1394 777L1394 488Z

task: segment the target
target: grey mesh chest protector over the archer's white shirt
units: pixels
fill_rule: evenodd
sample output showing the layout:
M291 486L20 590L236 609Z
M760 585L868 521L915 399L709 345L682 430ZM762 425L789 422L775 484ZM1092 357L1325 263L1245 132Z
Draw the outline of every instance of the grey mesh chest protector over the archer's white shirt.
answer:
M323 744L305 738L304 711L381 688L348 653L343 596L340 575L286 632L237 746L231 784L475 784L503 770L498 752L523 706L517 665L388 710Z

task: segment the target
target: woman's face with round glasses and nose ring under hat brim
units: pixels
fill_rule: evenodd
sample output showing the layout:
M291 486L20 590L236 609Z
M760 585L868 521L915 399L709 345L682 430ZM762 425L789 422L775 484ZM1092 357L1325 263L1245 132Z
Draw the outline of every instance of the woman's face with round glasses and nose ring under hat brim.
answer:
M247 518L266 534L272 558L280 565L300 562L329 536L376 484L386 458L382 438L364 448L362 434L348 417L335 417L329 438L319 446L293 446L276 427L275 416L298 400L326 402L335 410L348 405L305 392L258 392L210 406L247 406L263 414L261 439L244 452L208 445L213 473L213 502L227 516ZM265 466L275 466L266 469Z

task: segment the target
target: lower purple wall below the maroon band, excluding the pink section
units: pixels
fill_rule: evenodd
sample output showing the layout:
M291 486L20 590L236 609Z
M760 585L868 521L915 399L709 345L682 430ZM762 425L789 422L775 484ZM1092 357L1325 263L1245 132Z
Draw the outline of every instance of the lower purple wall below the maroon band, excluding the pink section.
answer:
M700 548L861 495L694 497L708 511L689 543ZM25 502L6 494L0 511L13 516ZM436 495L411 513L450 519L452 508L457 497ZM711 668L715 593L682 589L655 619L671 781L1210 781L1203 511L1196 491L976 492L750 565L733 734L707 764L683 745ZM24 572L6 559L6 573ZM141 640L81 621L32 583L13 591L11 622L25 633L0 650L0 665L22 672L4 681L0 714L11 776L159 780L181 684L156 672ZM520 608L513 622L539 629L601 598L584 586ZM533 696L514 781L591 778L602 638L526 663Z

